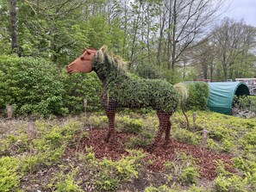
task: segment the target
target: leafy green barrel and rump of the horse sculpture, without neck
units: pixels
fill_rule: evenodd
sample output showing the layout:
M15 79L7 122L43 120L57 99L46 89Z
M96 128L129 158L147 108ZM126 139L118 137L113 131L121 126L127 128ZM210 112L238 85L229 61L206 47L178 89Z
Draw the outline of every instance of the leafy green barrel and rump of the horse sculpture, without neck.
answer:
M172 84L160 79L134 79L116 82L111 97L120 107L153 107L165 113L172 113L178 106L178 93ZM118 91L117 91L118 87Z

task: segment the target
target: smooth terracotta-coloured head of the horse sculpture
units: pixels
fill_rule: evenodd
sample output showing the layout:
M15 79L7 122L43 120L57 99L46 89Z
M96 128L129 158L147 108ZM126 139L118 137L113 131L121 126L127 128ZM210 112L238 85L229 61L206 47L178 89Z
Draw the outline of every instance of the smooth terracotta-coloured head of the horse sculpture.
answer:
M70 65L66 66L68 73L72 72L91 72L92 71L92 59L97 51L94 49L84 48L83 54L75 59Z

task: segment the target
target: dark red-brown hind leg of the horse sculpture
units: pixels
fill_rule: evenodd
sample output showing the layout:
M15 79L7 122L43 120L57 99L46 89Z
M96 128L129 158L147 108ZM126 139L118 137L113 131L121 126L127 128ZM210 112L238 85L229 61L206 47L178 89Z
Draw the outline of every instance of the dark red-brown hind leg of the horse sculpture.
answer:
M170 135L170 128L171 128L170 116L171 115L163 112L157 112L157 115L159 117L159 131L154 139L153 145L150 146L148 149L148 151L150 152L152 152L153 149L159 144L164 132L165 132L165 139L166 139L167 132L169 132L169 135ZM168 126L170 127L169 129L168 129Z

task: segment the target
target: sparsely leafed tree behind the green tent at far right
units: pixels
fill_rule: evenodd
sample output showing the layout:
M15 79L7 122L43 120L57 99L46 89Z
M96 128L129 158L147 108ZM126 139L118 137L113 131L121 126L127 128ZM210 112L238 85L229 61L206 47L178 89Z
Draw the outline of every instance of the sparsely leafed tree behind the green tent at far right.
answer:
M227 81L233 78L236 59L240 58L240 65L245 65L247 53L255 46L255 28L227 17L215 28L213 38L222 65L223 79Z

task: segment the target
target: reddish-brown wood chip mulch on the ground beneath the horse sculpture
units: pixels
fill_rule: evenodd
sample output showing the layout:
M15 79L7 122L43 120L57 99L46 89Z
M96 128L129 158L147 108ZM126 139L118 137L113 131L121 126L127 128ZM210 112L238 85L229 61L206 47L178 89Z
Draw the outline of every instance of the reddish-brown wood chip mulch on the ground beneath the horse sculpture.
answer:
M84 148L92 147L96 158L109 158L112 160L118 160L122 156L128 155L125 151L124 143L133 135L131 133L116 133L117 139L113 146L109 146L104 141L107 134L107 129L92 129L89 131L89 139L80 140L79 146L76 150L79 152L84 151ZM69 149L68 153L72 154L73 150ZM153 160L153 164L148 165L149 170L163 172L165 171L165 161L172 161L175 158L175 152L185 152L187 155L191 155L196 158L197 165L199 167L199 173L201 178L213 180L216 177L216 161L222 160L224 164L230 166L226 167L227 170L234 172L234 168L231 162L231 155L227 153L211 152L207 149L203 149L200 146L191 146L179 142L178 140L171 139L167 146L160 144L155 148L152 153L149 153L144 149L146 154L145 160Z

